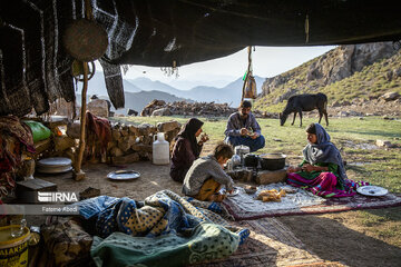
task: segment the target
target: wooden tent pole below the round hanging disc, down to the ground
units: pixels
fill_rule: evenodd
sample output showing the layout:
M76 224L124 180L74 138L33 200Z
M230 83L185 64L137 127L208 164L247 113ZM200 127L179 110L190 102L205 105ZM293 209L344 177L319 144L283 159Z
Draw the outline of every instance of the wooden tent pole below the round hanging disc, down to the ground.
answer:
M80 136L79 136L79 148L78 156L75 169L75 180L81 180L85 178L85 172L81 170L85 145L86 145L86 97L88 91L88 62L82 62L84 65L84 88L81 96L81 113L80 113Z

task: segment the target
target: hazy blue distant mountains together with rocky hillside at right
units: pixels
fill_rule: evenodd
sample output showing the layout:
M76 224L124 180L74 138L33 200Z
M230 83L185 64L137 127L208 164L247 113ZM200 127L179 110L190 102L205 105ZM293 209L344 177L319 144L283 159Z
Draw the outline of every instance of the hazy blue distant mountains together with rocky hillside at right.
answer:
M299 93L326 93L329 105L376 99L387 92L401 93L401 53L392 42L339 46L301 66L271 78L255 77L258 97L255 108L261 111L280 112L286 100ZM124 79L126 108L141 111L151 100L226 102L237 107L243 80L238 78L226 86L209 86L211 80L189 90L174 85L194 85L192 80L178 79L169 85L148 78ZM208 85L208 86L207 86ZM183 87L180 87L183 88ZM186 87L188 88L188 87ZM102 72L89 81L88 96L108 98Z

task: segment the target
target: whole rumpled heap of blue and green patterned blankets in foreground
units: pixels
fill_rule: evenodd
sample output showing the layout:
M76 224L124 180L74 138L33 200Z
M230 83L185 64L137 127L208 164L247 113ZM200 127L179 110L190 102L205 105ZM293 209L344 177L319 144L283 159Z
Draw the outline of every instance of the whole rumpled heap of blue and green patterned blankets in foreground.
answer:
M101 237L91 248L98 266L183 266L217 259L233 254L250 235L190 201L163 190L144 201L100 196L75 205ZM222 210L215 204L205 207Z

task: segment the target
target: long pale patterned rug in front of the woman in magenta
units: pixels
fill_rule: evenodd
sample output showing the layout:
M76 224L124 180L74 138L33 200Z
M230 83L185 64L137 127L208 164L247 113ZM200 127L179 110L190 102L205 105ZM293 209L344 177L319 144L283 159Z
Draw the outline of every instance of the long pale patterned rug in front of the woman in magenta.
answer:
M287 195L290 198L290 194ZM286 198L286 197L284 197ZM277 202L262 202L255 199L248 199L250 207L246 208L244 204L244 197L232 197L223 201L228 212L234 217L235 220L245 219L258 219L264 217L276 217L287 215L307 215L307 214L326 214L336 211L346 211L352 209L375 209L375 208L388 208L401 206L401 196L388 194L383 197L366 197L356 194L353 197L345 198L321 198L321 202L313 205L294 205L288 207L277 208ZM255 207L263 206L258 210ZM271 208L270 208L271 207Z

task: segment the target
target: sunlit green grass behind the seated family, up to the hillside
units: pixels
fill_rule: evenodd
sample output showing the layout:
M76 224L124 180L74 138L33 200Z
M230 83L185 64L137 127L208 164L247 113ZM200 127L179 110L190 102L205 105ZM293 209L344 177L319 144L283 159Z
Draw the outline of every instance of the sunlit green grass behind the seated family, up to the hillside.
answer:
M115 118L128 123L151 125L172 119L184 123L188 118ZM205 122L203 130L209 135L211 142L224 139L226 118L199 119ZM315 118L304 118L303 125L306 127L313 121ZM302 149L306 145L304 127L291 126L288 122L280 127L277 119L258 119L258 123L266 138L266 146L257 154L283 152L288 156L287 164L295 165L301 161ZM342 151L350 178L385 187L392 192L401 192L401 120L384 120L379 117L330 118L330 126L325 129ZM374 146L376 139L389 140L398 148L378 148Z

